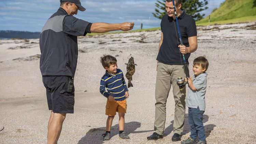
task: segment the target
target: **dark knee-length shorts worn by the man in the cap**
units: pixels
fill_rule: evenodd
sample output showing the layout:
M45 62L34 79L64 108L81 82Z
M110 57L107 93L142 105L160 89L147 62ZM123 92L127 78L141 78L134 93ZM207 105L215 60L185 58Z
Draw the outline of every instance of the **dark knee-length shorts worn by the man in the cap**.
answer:
M49 110L54 113L74 113L75 88L67 92L68 80L71 76L43 76Z

